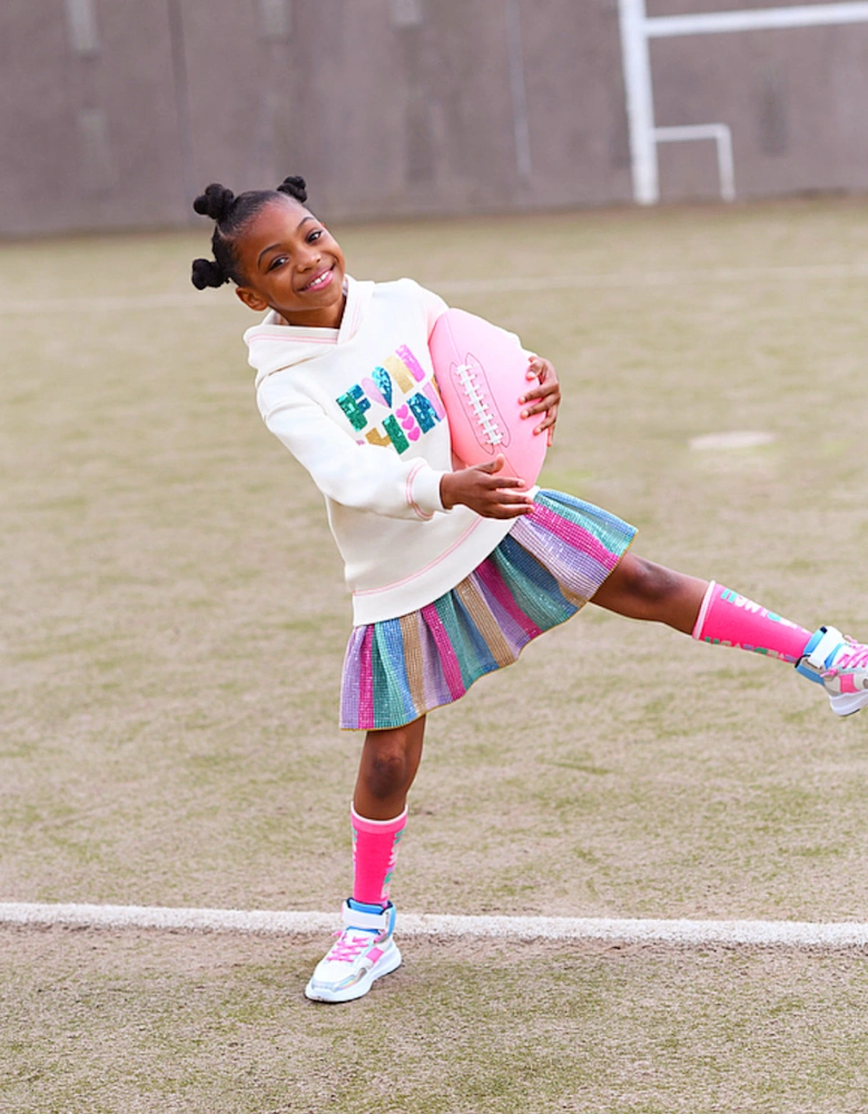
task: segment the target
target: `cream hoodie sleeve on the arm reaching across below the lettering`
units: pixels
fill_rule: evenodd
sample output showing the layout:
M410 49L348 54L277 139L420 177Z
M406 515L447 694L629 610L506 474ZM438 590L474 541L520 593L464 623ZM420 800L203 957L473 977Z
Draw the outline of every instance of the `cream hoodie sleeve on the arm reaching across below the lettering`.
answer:
M388 518L428 519L448 514L440 498L444 475L416 457L404 460L377 444L359 444L313 400L258 394L265 424L307 469L333 502Z

